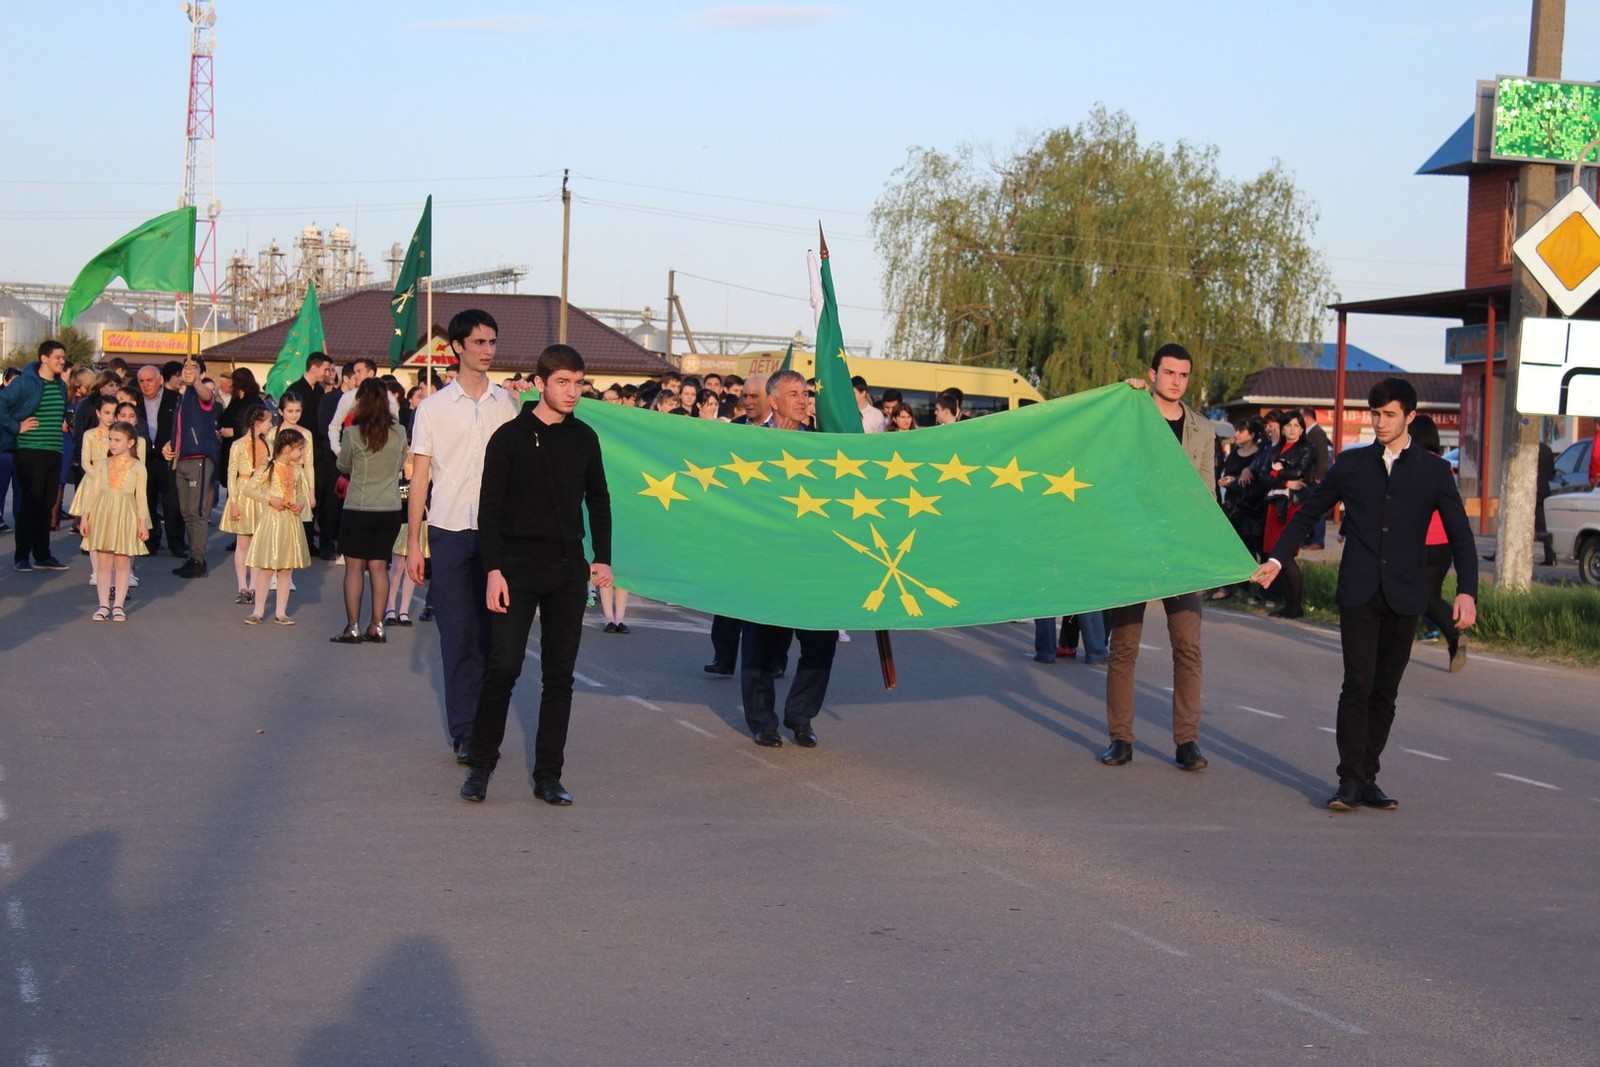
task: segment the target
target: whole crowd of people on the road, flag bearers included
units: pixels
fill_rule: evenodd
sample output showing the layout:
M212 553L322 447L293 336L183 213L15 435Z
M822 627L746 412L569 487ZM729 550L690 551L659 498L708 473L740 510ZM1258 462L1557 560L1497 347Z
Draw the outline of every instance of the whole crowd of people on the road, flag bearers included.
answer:
M246 624L291 625L293 574L312 560L344 565L344 624L333 641L382 643L410 625L414 590L427 582L421 616L438 624L443 718L456 760L469 768L461 795L482 801L499 760L512 689L534 614L541 625L541 704L534 795L571 803L562 785L573 669L586 606L600 595L606 633L627 633L627 595L610 568L611 514L598 438L573 419L579 398L666 414L803 432L816 429L816 384L790 370L771 376L664 376L643 386L587 384L582 357L549 346L531 378L494 384L498 325L482 310L456 315L448 339L458 363L427 387L406 390L371 360L346 366L314 352L304 376L277 398L250 370L213 379L202 358L101 371L69 370L46 341L38 360L0 389L0 454L16 480L19 573L67 569L51 549L62 523L82 536L96 592L96 622L125 622L134 560L160 550L182 563L181 579L208 574L213 509L234 542L235 603ZM1461 630L1475 617L1477 563L1470 528L1437 429L1416 414L1403 379L1373 389L1376 443L1334 458L1315 416L1274 411L1235 426L1218 448L1210 421L1182 402L1192 357L1155 352L1144 379L1208 491L1219 493L1240 539L1261 560L1251 576L1280 597L1274 614L1301 614L1294 557L1320 547L1326 514L1347 510L1338 603L1346 656L1339 697L1336 811L1394 809L1376 785L1378 755L1394 718L1410 643L1421 616L1448 637L1451 669L1464 662ZM853 381L862 429L909 432L917 413L894 390L878 398ZM538 390L536 402L525 402ZM931 422L963 418L958 390L939 394ZM1221 454L1219 454L1221 453ZM544 491L518 491L539 485ZM70 494L66 488L70 486ZM66 507L64 507L66 506ZM66 515L66 520L62 520ZM586 517L592 558L586 555ZM1432 530L1429 530L1432 526ZM1414 542L1414 544L1413 544ZM1440 582L1458 571L1456 601ZM1227 597L1240 589L1214 590ZM1174 761L1206 766L1200 729L1200 609L1203 592L1163 600L1173 654ZM366 603L363 619L362 606ZM1109 608L1035 624L1035 659L1107 664L1110 745L1101 763L1133 758L1134 669L1147 605ZM365 622L365 624L363 624ZM1410 627L1410 630L1406 629ZM1402 632L1405 638L1402 640ZM837 630L794 630L717 617L709 673L741 675L746 723L758 745L818 744L811 720L827 693ZM800 657L779 712L776 681Z

